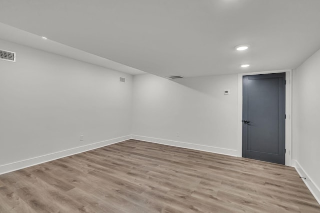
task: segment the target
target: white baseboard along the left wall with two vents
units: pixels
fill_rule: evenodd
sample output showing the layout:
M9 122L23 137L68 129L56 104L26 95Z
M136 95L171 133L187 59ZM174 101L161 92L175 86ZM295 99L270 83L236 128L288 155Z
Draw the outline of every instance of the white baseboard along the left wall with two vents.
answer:
M107 145L111 145L111 144L115 144L121 141L125 141L131 139L131 135L127 135L127 136L122 136L122 137L118 137L118 138L113 138L113 139L109 139L106 141L100 141L100 142L96 142L93 144L88 144L88 145L84 145L84 146L80 146L80 147L75 147L75 148L71 148L71 149L67 149L67 150L62 150L59 152L54 152L54 153L50 153L47 155L42 155L42 156L37 156L34 158L30 158L30 159L26 159L26 160L22 160L22 161L17 161L17 162L13 162L13 163L9 163L9 164L5 164L5 165L0 165L0 175L4 174L4 173L8 173L8 172L12 172L12 171L16 171L19 169L23 169L26 167L30 167L30 166L34 166L37 164L42 164L48 161L52 161L52 160L56 160L59 158L63 158L63 157L67 157L70 155L75 155L81 152L85 152L85 151L89 151L92 149L96 149L96 148L100 148L100 147L104 147Z

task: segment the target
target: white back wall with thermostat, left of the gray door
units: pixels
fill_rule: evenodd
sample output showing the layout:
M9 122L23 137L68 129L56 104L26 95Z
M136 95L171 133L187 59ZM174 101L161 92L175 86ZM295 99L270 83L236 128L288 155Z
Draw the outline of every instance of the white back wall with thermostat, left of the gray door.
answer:
M224 95L224 89L230 89L230 94ZM178 82L151 74L133 77L136 139L237 155L236 120L236 74Z

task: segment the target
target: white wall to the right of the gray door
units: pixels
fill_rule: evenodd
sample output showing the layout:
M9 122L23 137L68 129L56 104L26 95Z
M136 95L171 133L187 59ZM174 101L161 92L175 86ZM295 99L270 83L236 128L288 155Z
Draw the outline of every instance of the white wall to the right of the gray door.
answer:
M294 70L292 77L292 158L312 180L320 202L320 50Z

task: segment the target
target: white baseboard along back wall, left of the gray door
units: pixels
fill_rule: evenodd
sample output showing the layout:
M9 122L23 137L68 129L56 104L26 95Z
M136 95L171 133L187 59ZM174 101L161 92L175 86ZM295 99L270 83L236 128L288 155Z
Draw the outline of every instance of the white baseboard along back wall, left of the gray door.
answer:
M132 139L135 139L135 140L141 140L141 141L146 141L151 143L157 143L157 144L163 144L163 145L169 145L174 147L181 147L181 148L187 148L187 149L193 149L193 150L199 150L199 151L205 151L205 152L212 152L212 153L229 155L229 156L237 156L237 151L231 150L231 149L211 147L211 146L199 145L199 144L191 144L191 143L185 143L181 141L171 141L166 139L152 138L152 137L139 136L139 135L131 135L131 137Z

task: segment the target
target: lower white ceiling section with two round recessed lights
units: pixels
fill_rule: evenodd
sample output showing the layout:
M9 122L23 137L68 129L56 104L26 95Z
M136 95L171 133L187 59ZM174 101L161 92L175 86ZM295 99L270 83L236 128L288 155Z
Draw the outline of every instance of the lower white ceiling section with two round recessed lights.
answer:
M320 0L0 0L2 23L184 77L296 68L320 48L319 11Z

